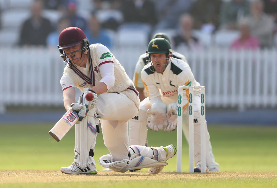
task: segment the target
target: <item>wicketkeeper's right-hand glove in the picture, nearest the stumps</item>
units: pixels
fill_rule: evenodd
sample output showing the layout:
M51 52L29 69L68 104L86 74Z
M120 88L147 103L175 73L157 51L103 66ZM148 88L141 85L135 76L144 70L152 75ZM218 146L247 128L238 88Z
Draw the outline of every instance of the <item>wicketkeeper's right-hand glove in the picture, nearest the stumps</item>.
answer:
M177 104L171 103L167 106L167 121L168 125L163 130L164 131L174 131L177 127Z

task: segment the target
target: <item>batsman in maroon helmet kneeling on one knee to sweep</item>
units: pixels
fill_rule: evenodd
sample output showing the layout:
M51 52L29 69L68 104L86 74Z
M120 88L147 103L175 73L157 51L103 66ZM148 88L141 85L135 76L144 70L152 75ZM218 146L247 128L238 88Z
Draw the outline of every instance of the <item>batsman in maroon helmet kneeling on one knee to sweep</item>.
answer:
M100 43L89 45L78 27L60 33L58 50L66 64L60 80L64 107L79 118L75 124L74 161L61 172L97 174L93 157L100 120L104 144L110 151L100 157L101 166L118 172L149 168L150 174L159 173L176 148L129 146L128 120L139 112L139 93L110 50ZM75 87L82 91L77 102ZM92 94L93 100L89 101L87 94Z

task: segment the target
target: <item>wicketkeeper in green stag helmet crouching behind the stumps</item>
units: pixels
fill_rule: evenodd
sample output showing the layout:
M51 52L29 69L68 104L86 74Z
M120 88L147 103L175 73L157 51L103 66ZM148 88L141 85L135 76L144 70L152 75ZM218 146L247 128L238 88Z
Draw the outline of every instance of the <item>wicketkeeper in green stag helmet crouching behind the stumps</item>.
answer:
M177 126L178 87L183 85L199 86L186 61L174 56L171 45L165 38L154 38L148 44L147 64L141 71L141 80L148 97L140 103L139 113L129 121L130 144L145 145L147 127L154 131L173 131ZM184 92L183 114L187 113L188 91ZM194 158L195 172L200 172L200 91L194 90ZM186 121L186 118L183 118ZM183 122L183 125L187 125ZM183 126L188 138L188 127ZM206 124L206 145L210 144ZM211 148L211 146L210 146ZM206 147L206 172L211 167L213 154ZM213 159L212 171L219 171L219 165Z

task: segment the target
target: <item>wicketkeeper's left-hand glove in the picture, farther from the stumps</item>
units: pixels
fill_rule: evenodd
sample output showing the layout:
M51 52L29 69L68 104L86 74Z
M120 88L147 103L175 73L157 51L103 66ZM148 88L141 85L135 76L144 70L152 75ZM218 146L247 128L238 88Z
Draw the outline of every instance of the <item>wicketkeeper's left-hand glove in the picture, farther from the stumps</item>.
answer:
M147 118L147 126L149 129L158 131L163 130L163 126L167 126L167 105L159 102L154 103L151 109L148 109L147 114L151 115Z

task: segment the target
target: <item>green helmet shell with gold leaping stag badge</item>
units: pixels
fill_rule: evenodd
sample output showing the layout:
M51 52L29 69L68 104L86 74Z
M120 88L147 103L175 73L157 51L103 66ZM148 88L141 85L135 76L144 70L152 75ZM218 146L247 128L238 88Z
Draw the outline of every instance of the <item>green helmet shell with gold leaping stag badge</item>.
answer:
M148 44L148 49L146 54L159 54L159 53L169 53L171 52L171 45L167 39L155 38Z

